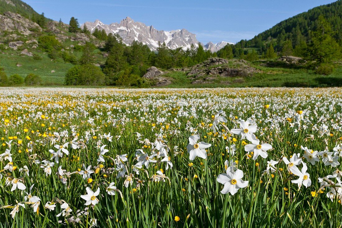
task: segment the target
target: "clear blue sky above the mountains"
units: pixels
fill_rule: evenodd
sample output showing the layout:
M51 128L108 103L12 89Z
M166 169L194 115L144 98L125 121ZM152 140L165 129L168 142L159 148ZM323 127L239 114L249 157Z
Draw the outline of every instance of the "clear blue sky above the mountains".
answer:
M25 0L24 0L25 1ZM203 43L250 39L278 22L329 0L26 0L38 13L69 23L96 19L105 24L127 16L159 30L185 28Z

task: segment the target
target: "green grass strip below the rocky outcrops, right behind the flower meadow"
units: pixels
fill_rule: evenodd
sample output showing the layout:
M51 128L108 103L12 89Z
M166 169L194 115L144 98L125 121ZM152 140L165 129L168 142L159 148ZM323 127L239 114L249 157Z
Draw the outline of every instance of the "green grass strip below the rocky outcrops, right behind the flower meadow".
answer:
M271 61L272 62L272 61ZM337 65L331 75L317 75L304 67L290 68L274 61L273 67L262 66L265 61L255 61L251 66L259 69L251 77L218 77L212 83L192 84L187 72L170 72L166 77L172 78L168 88L206 88L206 87L339 87L342 86L342 66ZM234 67L234 66L233 66ZM164 76L164 75L163 75Z

